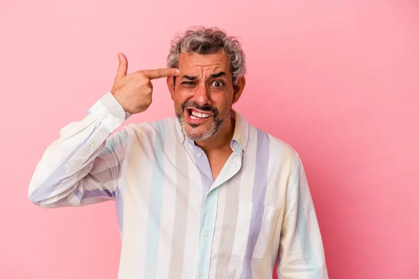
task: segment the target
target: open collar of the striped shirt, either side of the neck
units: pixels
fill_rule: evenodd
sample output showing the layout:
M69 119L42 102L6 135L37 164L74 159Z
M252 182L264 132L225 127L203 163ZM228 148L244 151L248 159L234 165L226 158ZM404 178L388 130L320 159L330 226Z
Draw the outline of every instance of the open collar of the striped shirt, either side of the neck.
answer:
M249 123L244 117L232 109L232 117L235 119L235 127L233 133L233 139L231 140L230 146L234 152L237 151L236 142L240 145L243 151L247 150L247 143L249 142ZM184 143L186 136L183 133L182 126L179 123L179 119L175 118L175 126L179 140Z

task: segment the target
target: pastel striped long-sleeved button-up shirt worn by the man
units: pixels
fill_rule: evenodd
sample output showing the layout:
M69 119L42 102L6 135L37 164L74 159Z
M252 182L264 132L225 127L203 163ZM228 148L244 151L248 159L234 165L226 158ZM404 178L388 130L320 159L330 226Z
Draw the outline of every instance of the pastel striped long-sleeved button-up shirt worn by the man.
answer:
M119 278L328 278L298 154L233 111L215 181L179 121L129 124L106 93L48 146L29 185L45 208L115 200ZM115 133L113 133L115 132Z

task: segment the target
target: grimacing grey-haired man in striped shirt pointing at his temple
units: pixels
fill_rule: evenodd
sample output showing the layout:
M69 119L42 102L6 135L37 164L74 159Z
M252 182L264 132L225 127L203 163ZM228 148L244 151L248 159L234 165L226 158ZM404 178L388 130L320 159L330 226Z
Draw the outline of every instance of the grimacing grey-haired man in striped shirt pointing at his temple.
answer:
M119 278L328 278L316 213L297 153L232 105L246 84L240 43L193 28L168 68L127 75L61 130L29 186L43 207L113 199ZM176 118L124 126L166 77ZM112 134L111 134L112 133ZM278 260L277 260L278 258Z

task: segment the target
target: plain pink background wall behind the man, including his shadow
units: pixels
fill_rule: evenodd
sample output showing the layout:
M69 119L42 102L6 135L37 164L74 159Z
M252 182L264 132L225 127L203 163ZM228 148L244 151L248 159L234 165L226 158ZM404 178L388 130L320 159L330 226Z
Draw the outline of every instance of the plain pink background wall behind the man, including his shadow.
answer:
M1 1L0 278L116 278L115 204L40 209L29 181L110 90L118 52L128 73L164 67L194 24L244 42L235 108L300 153L330 278L418 278L417 0ZM164 80L153 98L128 123L173 115Z

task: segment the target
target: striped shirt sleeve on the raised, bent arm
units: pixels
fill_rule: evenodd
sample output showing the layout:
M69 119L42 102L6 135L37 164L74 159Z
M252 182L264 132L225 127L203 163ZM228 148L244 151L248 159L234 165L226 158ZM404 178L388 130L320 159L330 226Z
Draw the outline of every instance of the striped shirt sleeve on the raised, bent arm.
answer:
M106 93L82 119L60 130L29 183L29 200L41 207L81 206L115 199L128 134L114 132L130 116Z

